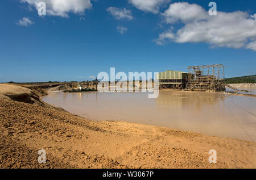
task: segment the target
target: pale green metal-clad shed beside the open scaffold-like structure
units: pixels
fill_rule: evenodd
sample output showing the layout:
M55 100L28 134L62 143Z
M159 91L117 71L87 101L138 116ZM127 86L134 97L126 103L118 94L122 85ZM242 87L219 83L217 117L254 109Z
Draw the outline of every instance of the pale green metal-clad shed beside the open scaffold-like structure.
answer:
M158 73L159 89L185 89L187 74L175 70Z

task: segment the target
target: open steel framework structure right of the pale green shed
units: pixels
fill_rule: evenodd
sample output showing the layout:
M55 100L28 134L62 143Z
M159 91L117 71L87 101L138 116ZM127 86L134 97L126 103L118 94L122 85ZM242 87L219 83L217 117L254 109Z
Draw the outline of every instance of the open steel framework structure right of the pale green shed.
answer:
M190 91L225 91L224 65L188 66L186 89Z

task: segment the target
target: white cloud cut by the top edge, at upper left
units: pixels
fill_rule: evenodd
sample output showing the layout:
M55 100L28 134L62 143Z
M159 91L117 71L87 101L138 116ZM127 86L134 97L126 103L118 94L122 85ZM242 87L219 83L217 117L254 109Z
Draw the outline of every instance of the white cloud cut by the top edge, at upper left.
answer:
M20 0L38 9L38 3L42 0ZM47 15L56 15L67 18L69 12L84 14L85 9L91 9L90 0L44 0L46 3Z

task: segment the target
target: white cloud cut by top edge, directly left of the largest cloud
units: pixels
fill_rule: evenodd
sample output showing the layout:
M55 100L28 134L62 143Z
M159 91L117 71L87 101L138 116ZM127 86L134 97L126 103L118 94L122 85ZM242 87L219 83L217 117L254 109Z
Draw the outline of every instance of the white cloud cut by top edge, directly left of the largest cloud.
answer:
M139 10L157 14L160 6L170 2L170 0L129 0L129 2Z

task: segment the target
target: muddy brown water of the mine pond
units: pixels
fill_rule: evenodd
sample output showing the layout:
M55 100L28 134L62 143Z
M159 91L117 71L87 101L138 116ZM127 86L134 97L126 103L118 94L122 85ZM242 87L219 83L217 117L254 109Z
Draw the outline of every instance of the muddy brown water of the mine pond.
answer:
M256 142L256 98L189 91L63 93L43 101L92 120L119 120Z

